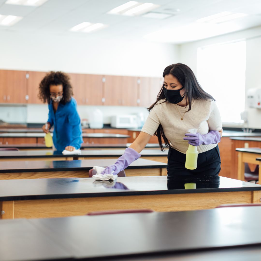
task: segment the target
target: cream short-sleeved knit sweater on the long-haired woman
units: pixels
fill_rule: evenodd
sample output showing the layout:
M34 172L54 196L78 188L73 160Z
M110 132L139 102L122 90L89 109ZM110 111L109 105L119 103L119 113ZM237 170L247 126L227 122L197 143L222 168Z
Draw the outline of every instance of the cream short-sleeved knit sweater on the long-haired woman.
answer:
M188 106L181 107L168 101L162 102L164 102L164 99L160 100L150 111L141 131L154 135L159 124L161 124L171 147L179 152L186 154L189 144L183 138L189 129L198 129L197 132L200 134L206 134L210 130L220 131L222 129L220 113L214 101L193 99L191 110L188 112L186 112ZM183 117L182 121L180 115ZM217 144L199 145L198 152L205 152L216 146Z

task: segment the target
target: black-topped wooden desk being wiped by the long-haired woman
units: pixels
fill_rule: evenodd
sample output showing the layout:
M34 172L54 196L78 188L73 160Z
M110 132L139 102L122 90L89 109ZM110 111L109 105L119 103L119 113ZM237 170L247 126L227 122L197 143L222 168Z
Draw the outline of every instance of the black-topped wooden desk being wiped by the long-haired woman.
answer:
M197 188L184 189L191 182ZM114 182L93 178L0 180L3 219L79 216L116 209L200 210L220 204L260 203L260 198L261 185L218 176L118 177Z

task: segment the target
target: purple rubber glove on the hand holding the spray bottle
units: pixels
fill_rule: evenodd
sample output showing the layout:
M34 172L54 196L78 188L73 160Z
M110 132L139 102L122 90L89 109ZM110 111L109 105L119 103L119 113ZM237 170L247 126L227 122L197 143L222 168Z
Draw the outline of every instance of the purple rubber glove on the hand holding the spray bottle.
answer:
M199 146L201 144L217 144L220 142L221 135L219 131L210 131L207 134L199 134L199 133L186 133L183 140L188 140L188 144L193 146Z

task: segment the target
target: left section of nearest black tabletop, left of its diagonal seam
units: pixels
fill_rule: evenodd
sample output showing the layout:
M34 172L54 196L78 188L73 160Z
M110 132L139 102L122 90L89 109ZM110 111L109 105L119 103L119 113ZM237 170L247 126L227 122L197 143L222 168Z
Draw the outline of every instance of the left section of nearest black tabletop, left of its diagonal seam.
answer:
M0 221L0 261L70 260L57 239L25 219Z

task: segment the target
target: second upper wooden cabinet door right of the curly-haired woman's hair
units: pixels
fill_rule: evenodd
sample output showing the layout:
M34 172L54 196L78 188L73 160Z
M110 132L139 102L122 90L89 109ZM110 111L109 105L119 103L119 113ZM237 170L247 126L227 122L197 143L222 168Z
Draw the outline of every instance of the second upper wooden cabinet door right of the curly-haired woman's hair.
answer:
M103 105L103 76L86 74L85 103L86 105Z

